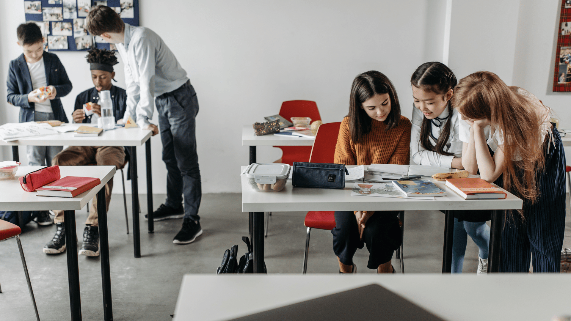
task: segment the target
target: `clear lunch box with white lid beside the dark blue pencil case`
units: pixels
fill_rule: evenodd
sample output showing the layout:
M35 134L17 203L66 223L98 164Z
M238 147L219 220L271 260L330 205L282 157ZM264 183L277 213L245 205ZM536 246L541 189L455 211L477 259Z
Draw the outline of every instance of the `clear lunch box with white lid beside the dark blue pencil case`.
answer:
M291 166L280 163L253 163L244 170L248 185L259 192L279 192L286 186Z

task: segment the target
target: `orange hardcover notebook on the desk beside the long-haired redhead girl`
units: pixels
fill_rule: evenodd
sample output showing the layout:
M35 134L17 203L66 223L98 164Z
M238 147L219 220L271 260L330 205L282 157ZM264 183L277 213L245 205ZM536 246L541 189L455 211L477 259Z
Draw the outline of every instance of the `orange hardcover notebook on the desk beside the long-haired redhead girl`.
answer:
M446 186L465 199L504 199L508 197L501 188L481 178L448 178Z

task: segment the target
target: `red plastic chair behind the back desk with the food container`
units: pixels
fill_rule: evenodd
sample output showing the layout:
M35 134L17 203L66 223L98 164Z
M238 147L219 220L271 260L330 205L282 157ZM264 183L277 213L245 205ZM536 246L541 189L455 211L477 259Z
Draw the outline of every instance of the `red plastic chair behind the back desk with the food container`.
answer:
M287 101L282 103L280 115L291 121L292 117L309 117L311 122L320 121L317 104L312 101ZM337 137L335 137L337 138ZM274 146L282 149L282 163L309 162L311 146Z

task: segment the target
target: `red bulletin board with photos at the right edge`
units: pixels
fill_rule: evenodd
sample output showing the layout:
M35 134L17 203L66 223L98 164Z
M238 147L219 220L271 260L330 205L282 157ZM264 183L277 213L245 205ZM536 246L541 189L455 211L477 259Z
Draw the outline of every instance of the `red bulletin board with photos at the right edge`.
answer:
M571 91L571 0L561 0L553 91Z

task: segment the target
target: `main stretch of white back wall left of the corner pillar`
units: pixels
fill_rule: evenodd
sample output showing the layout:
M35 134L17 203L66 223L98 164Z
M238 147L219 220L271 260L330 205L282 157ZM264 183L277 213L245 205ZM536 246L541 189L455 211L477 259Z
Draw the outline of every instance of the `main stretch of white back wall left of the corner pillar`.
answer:
M23 10L19 1L2 3L6 10L0 12L13 15L1 22L6 27L0 37L13 43ZM243 125L278 113L281 103L292 99L316 101L324 122L340 121L348 111L351 82L363 71L387 74L400 94L403 114L411 115L409 77L424 62L426 0L139 3L141 25L163 37L198 93L203 192L240 190L239 166L248 163L248 147L240 141ZM15 45L0 51L2 66L19 54ZM92 86L89 70L85 53L57 54L74 85L62 99L70 114L75 96ZM7 70L1 72L5 92ZM123 83L122 75L117 78ZM17 121L17 109L4 111L1 121ZM158 137L152 150L154 192L164 193L166 170ZM260 162L280 155L272 147L258 149ZM144 176L139 178L143 193Z

